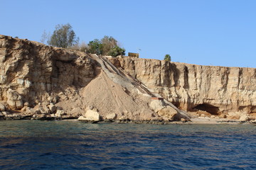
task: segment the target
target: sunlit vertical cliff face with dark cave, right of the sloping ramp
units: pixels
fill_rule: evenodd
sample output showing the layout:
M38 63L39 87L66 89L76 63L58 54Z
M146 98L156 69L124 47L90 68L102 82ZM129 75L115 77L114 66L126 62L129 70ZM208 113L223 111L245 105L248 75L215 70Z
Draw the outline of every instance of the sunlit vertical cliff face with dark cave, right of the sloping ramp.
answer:
M256 113L256 69L135 58L110 61L185 111L224 118Z

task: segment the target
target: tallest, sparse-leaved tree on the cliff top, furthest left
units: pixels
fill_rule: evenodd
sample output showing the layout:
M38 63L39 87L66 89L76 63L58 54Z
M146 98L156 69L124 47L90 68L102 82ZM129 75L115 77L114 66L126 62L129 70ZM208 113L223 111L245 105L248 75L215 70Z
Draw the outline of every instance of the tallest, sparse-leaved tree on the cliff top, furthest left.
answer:
M58 24L55 26L53 35L48 40L48 45L66 48L78 44L78 42L79 38L76 37L72 26L67 23L65 25Z

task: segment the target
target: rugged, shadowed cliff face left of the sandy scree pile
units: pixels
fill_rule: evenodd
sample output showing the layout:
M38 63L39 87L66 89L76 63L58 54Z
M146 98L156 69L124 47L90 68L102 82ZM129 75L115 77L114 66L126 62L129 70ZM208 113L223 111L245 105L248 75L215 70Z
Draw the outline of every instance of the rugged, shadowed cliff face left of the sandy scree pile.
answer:
M56 103L95 77L95 61L85 53L0 35L0 101L21 109L42 101ZM60 95L56 95L61 93Z

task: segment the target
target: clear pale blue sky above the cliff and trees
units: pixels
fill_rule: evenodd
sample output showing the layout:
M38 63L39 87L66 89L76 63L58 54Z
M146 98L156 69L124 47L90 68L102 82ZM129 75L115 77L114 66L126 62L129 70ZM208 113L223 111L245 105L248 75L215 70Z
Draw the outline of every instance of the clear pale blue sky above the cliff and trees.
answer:
M0 34L40 41L70 23L80 41L109 35L127 52L174 62L256 67L255 0L0 0Z

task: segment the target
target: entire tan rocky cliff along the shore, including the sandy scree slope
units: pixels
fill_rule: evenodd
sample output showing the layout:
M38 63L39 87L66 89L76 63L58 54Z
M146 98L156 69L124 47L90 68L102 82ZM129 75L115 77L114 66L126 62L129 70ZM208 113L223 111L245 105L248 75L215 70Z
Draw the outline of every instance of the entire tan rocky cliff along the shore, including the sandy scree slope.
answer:
M252 68L107 59L5 35L0 66L5 119L188 120L184 111L191 117L256 116Z

